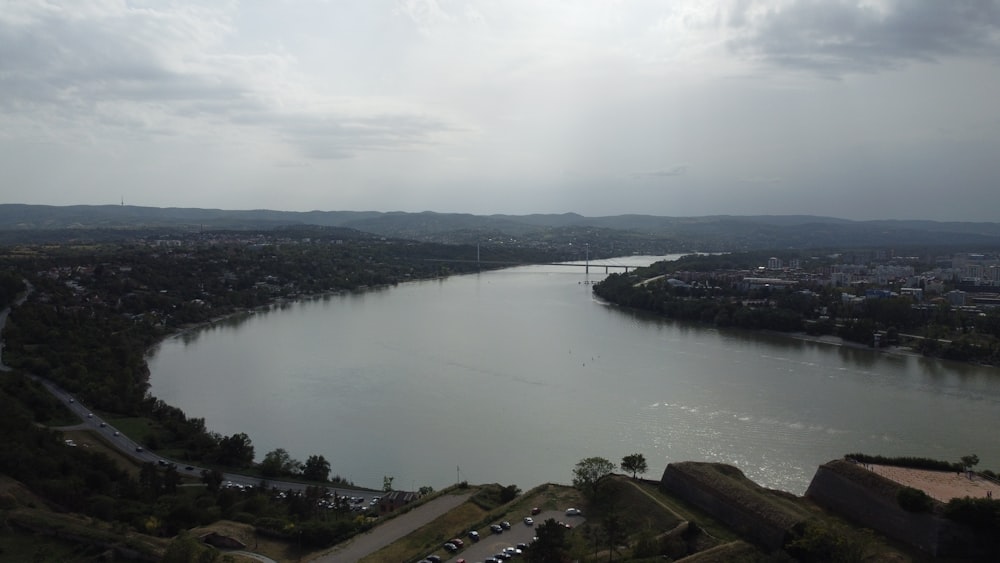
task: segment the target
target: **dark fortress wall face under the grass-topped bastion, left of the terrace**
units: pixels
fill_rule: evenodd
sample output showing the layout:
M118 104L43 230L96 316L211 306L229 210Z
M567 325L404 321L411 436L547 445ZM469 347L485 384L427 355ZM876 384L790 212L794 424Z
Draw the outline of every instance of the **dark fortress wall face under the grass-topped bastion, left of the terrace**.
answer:
M776 522L763 511L755 510L761 508L760 504L754 506L745 499L733 498L725 490L698 479L685 471L689 464L690 462L667 465L660 479L661 486L723 522L744 539L765 549L776 550L785 544L793 523ZM747 482L752 485L749 480Z

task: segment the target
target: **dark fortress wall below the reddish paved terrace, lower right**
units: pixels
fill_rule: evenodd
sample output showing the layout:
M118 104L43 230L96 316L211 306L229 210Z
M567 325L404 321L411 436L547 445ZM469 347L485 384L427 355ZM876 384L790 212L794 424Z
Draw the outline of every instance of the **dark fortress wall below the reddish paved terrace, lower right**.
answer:
M873 479L878 482L873 482ZM967 528L931 513L903 510L895 492L902 485L837 460L821 465L806 497L880 534L912 545L935 557L967 557L980 553Z

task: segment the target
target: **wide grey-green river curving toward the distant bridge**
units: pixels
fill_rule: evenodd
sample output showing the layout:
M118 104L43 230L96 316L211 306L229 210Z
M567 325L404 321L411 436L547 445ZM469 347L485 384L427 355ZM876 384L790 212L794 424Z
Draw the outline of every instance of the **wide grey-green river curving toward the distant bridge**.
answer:
M603 277L518 267L234 317L154 350L152 393L374 488L527 489L634 452L650 477L717 461L797 494L852 452L1000 470L1000 370L648 318L595 299Z

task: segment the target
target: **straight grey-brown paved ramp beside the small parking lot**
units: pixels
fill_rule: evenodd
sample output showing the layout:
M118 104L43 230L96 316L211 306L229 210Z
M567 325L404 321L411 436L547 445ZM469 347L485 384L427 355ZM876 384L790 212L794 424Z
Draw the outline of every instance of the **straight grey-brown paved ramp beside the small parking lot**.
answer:
M468 500L469 496L469 494L444 495L436 498L406 514L397 516L386 521L384 524L376 526L370 532L357 536L344 545L337 546L333 551L320 555L311 561L314 563L357 561L406 536L421 526L429 524L435 518Z

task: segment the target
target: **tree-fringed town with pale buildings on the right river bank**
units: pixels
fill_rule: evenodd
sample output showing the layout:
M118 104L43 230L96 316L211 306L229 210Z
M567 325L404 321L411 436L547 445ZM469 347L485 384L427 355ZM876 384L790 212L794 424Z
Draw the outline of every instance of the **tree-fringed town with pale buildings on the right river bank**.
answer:
M615 273L594 293L719 327L840 337L996 365L1000 254L893 250L688 254Z

